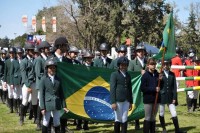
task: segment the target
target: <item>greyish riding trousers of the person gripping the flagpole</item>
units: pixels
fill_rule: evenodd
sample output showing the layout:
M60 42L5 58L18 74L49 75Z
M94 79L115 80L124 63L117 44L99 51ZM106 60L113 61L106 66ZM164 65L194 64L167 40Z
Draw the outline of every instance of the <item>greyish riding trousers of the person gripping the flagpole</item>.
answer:
M154 104L153 103L144 104L145 120L147 120L147 121L155 121L156 114L158 112L158 106L159 106L159 104L157 103L156 104L156 108L155 108L155 112L153 114Z

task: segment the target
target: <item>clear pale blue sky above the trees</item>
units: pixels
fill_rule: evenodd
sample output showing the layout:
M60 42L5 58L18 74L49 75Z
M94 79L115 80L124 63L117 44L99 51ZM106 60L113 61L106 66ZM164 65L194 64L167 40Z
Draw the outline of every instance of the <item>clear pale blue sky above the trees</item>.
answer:
M185 10L191 2L199 0L166 0L166 2L175 1L180 9L178 17L182 22L186 22L189 11ZM38 10L43 7L57 5L58 0L1 0L0 1L0 38L7 36L10 39L27 32L23 26L22 15L28 15L28 25L31 24L31 17L36 15ZM15 34L16 33L16 34Z

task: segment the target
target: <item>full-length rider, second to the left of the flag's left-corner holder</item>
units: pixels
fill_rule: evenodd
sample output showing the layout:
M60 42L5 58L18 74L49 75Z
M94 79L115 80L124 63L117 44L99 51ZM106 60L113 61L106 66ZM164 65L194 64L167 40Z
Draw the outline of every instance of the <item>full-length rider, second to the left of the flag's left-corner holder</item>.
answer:
M31 43L25 44L26 57L20 63L22 75L22 104L20 109L20 125L24 123L24 115L29 97L35 110L37 105L38 92L35 89L35 70L34 70L34 45Z

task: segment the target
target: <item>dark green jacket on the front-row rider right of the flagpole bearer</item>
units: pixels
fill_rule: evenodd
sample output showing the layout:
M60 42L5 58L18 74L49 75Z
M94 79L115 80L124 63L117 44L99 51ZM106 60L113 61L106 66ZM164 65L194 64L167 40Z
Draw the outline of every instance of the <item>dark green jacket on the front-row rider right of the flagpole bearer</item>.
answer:
M163 78L160 83L160 97L161 104L171 104L173 100L177 101L176 77L171 71L169 71L168 78L163 72Z

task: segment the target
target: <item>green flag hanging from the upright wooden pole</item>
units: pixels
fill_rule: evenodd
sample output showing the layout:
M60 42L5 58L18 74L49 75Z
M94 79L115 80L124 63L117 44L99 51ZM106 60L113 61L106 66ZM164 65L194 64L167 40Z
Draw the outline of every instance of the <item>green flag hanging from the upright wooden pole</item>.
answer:
M174 31L174 21L173 21L173 12L169 14L165 29L163 31L163 43L161 45L160 51L153 58L161 59L163 56L164 48L165 50L165 59L171 59L176 55L175 50L175 31Z

